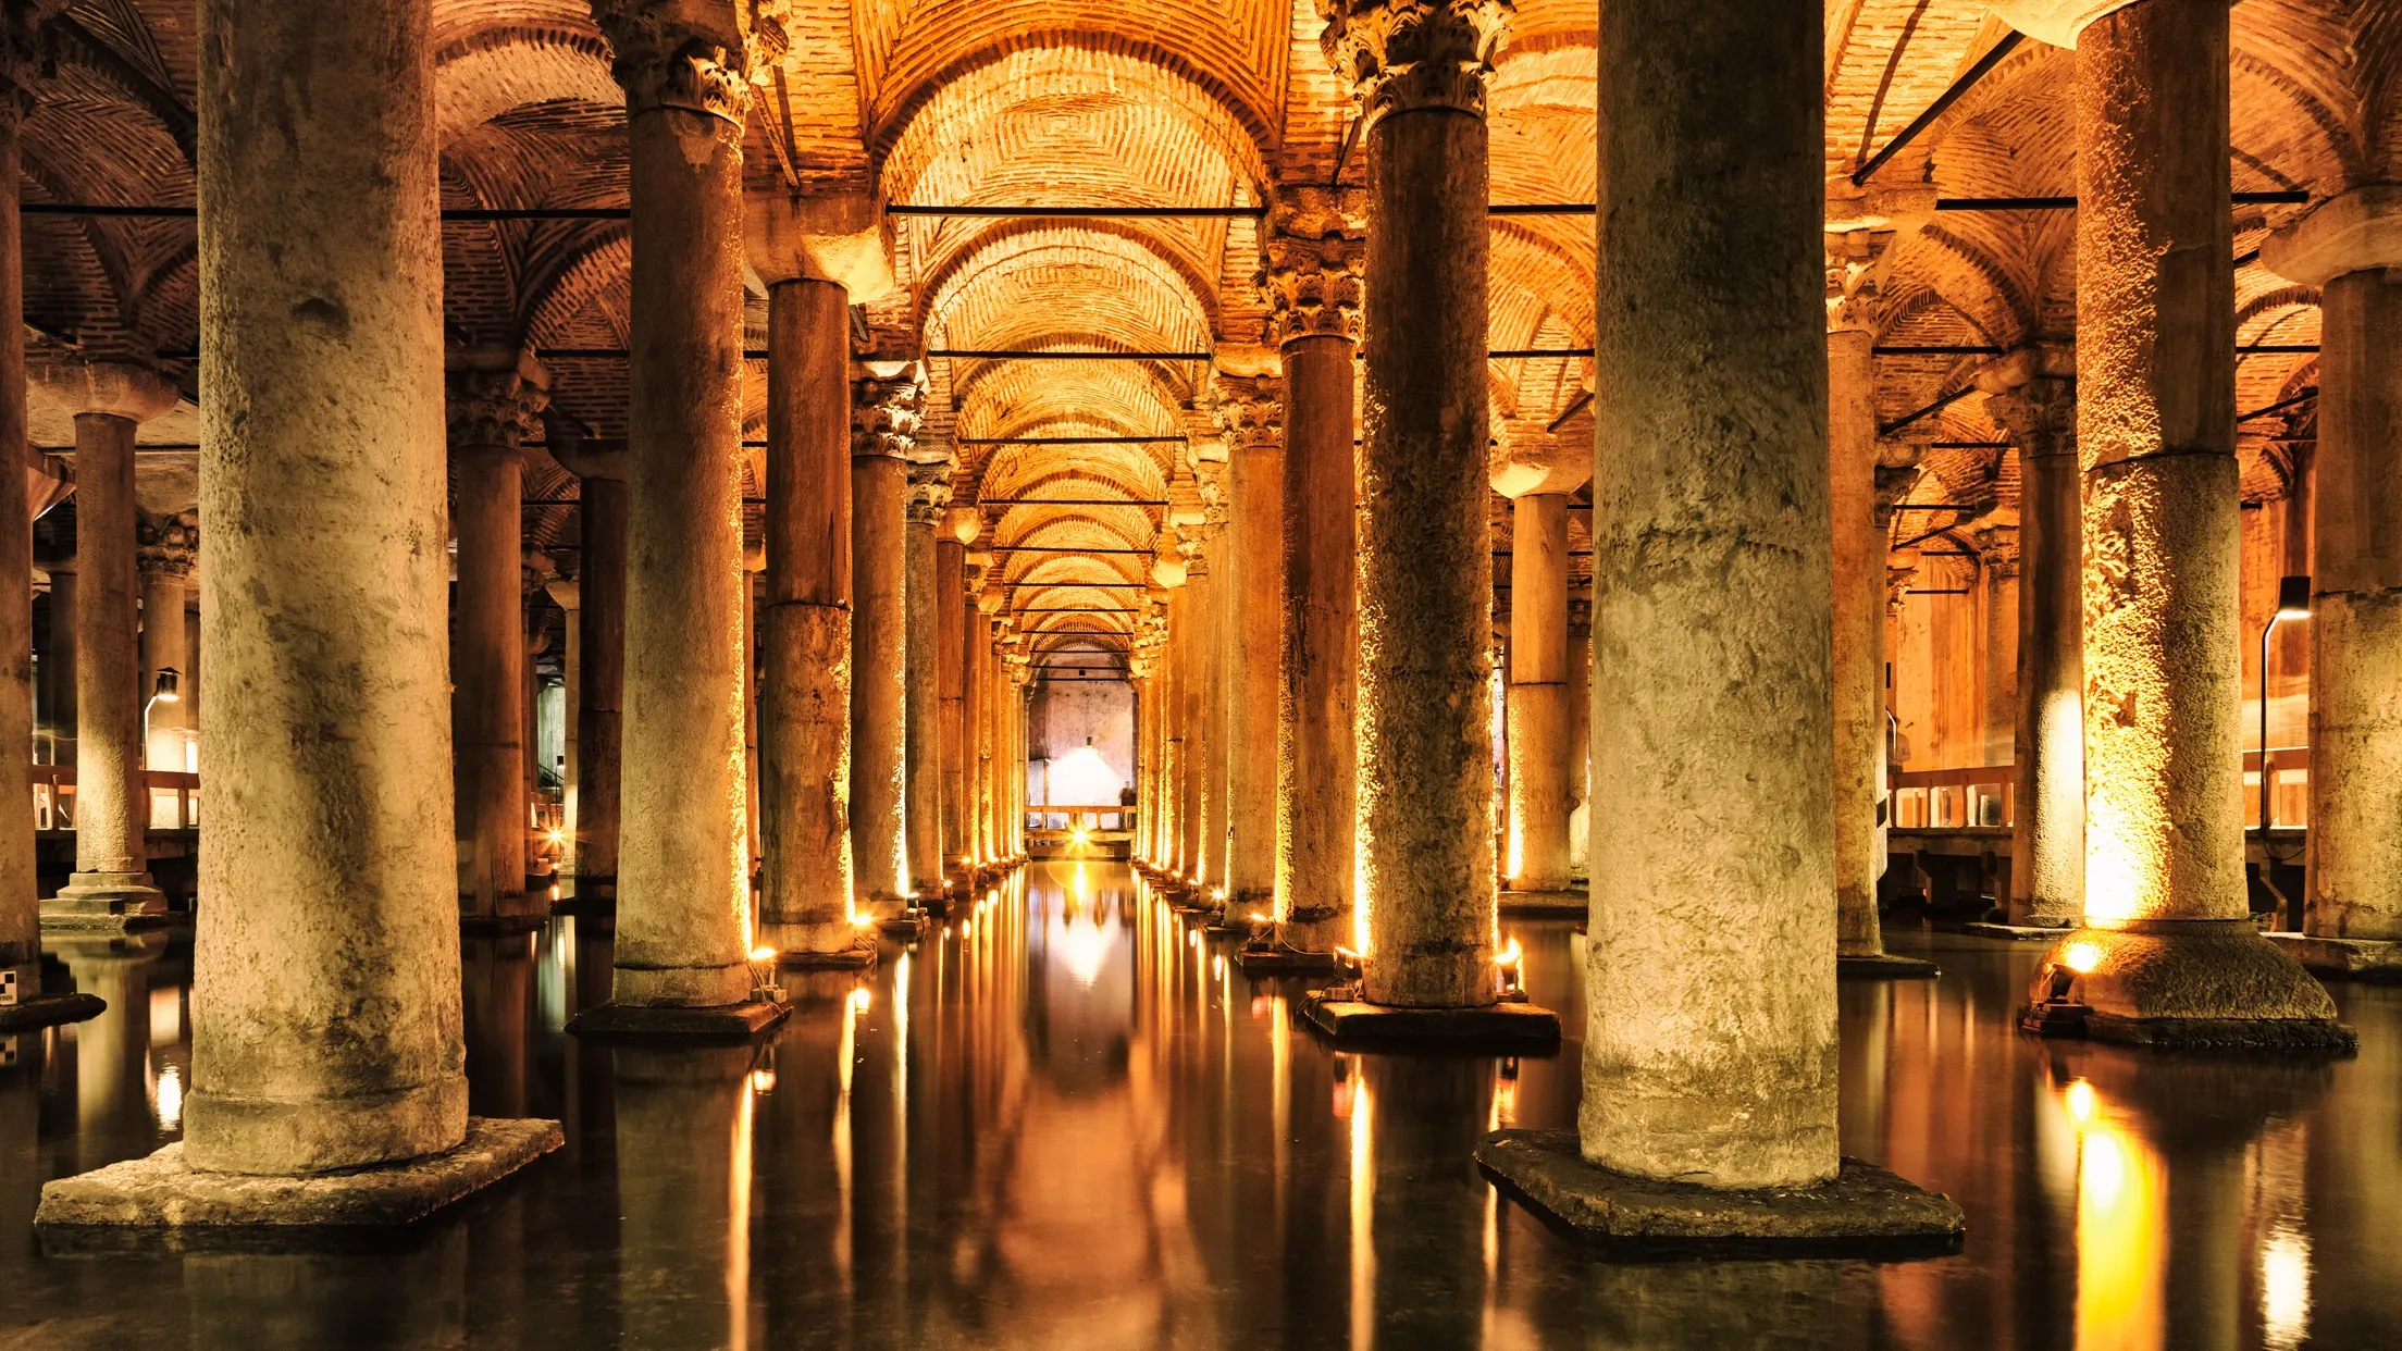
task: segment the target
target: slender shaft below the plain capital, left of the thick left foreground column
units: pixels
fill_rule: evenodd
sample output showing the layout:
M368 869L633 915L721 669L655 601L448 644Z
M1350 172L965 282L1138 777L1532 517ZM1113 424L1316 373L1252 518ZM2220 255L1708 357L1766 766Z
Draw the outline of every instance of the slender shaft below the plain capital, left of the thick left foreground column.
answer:
M142 659L135 649L135 421L74 418L74 877L60 904L161 909L142 827Z

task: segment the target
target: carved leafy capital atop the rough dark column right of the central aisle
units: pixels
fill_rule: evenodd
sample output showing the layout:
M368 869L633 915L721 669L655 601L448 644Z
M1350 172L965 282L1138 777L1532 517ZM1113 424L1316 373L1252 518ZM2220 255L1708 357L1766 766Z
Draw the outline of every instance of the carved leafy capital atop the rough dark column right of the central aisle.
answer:
M1482 118L1513 12L1511 0L1319 0L1319 46L1360 101L1362 135L1420 108Z

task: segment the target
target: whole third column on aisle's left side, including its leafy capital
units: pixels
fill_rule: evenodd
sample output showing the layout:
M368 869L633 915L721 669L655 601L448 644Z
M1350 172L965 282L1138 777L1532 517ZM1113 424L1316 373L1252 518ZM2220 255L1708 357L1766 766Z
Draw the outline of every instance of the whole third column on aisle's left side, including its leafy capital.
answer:
M850 892L879 921L908 909L908 450L925 375L867 361L850 389Z

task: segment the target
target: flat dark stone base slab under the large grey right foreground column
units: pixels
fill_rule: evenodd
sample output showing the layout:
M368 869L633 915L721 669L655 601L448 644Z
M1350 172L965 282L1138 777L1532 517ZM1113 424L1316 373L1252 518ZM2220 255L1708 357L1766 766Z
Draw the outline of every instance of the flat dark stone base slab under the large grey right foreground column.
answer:
M1477 1166L1595 1257L1941 1257L1967 1216L1938 1192L1845 1159L1816 1188L1717 1190L1585 1163L1573 1130L1496 1130Z

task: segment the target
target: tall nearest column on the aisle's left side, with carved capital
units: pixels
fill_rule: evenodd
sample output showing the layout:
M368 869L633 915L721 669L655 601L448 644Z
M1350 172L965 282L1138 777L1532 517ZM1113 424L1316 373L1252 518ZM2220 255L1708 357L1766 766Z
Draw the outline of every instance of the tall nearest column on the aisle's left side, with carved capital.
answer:
M627 91L625 760L610 1019L749 1007L742 875L742 111L733 0L596 0ZM781 34L776 34L781 36ZM598 1010L593 1010L598 1012ZM608 1019L584 1014L584 1026ZM754 1019L735 1014L733 1026Z

